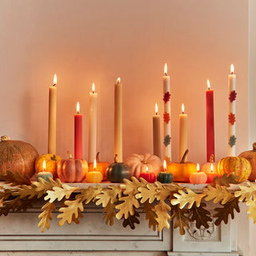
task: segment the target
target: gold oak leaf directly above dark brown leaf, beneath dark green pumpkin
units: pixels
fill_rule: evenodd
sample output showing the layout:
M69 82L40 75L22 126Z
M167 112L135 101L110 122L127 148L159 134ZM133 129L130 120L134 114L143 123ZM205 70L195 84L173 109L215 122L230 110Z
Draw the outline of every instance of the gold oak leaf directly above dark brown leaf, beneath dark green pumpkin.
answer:
M119 210L116 214L116 218L121 219L124 215L125 218L130 215L134 215L134 206L139 207L138 200L134 198L134 194L129 194L126 197L119 198L119 201L123 201L118 206L115 206L115 209Z

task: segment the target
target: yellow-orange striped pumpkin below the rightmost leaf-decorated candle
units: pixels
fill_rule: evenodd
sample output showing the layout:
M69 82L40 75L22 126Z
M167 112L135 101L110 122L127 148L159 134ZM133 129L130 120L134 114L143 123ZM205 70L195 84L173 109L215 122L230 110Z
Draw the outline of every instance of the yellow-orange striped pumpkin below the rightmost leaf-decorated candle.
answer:
M244 182L249 178L251 172L250 162L246 158L226 157L218 162L218 174L230 175L234 173L240 176L238 182Z

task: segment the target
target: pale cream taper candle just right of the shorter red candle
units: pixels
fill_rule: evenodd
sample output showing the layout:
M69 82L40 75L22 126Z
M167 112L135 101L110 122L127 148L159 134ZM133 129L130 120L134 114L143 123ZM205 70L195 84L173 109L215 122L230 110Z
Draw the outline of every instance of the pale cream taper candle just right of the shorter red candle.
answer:
M90 92L90 118L89 118L89 145L88 145L88 162L94 162L96 158L96 134L97 134L97 94L95 86L92 86Z

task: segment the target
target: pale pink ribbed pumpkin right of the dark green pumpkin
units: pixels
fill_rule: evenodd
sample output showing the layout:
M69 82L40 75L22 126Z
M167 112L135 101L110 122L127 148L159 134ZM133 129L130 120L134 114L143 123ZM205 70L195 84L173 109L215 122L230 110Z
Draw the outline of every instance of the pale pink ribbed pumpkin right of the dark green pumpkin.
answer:
M138 178L139 174L148 171L158 174L162 171L162 161L158 156L153 154L131 154L125 161L126 165L130 166L132 176Z

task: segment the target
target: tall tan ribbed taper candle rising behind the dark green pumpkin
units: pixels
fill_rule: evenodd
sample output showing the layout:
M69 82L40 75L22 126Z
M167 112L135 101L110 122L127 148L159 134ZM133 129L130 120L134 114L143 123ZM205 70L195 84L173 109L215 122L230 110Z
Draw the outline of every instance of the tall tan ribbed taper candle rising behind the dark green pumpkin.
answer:
M122 162L122 85L118 78L114 85L114 155Z

